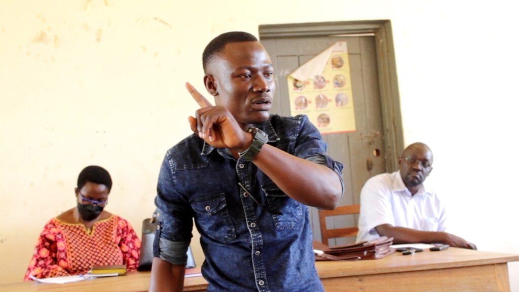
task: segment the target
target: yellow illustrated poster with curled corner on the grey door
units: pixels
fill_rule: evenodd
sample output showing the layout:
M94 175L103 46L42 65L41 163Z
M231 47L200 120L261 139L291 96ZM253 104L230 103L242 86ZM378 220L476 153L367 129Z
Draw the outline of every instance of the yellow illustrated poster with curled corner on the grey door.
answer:
M287 77L292 115L306 114L321 134L356 130L346 42L336 42Z

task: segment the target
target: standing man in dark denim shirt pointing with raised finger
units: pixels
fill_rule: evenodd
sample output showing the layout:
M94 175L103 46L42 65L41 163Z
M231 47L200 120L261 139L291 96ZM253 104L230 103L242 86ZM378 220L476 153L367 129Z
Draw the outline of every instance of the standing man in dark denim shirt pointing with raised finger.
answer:
M203 68L216 106L186 85L201 108L160 169L150 291L182 291L193 218L208 291L322 291L307 206L336 207L342 164L306 116L269 114L274 69L253 35L217 36Z

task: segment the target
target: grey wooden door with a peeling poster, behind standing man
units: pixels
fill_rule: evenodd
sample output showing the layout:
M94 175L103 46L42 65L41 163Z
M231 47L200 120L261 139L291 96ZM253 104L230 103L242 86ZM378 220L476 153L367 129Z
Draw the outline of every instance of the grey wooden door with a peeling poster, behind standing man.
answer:
M344 164L345 193L340 205L351 205L360 203L360 191L368 178L386 171L375 37L365 35L261 39L274 63L277 78L272 113L280 115L291 115L286 76L337 41L346 41L348 45L357 131L324 135L323 138L329 145L329 154ZM321 241L318 210L311 208L310 215L313 238ZM330 219L327 226L351 227L357 225L357 220L357 216L338 216ZM341 238L331 240L330 245L353 241Z

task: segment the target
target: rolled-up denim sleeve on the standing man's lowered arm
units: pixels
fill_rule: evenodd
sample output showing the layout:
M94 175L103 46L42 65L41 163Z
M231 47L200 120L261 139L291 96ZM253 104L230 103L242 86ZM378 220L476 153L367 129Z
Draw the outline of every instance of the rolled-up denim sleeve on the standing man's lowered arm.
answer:
M193 231L193 209L175 185L170 152L160 168L155 205L160 209L153 255L173 264L186 264L186 251Z

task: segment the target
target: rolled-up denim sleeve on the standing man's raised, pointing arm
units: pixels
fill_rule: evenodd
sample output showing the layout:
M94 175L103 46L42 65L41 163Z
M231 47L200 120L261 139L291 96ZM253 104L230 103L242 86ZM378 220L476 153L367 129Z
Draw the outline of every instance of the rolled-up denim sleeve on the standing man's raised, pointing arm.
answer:
M328 145L323 141L319 130L308 120L306 115L298 115L298 135L294 155L308 161L325 165L335 171L344 194L344 165L326 154Z

